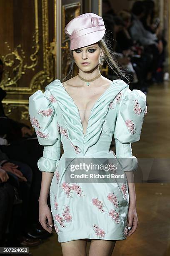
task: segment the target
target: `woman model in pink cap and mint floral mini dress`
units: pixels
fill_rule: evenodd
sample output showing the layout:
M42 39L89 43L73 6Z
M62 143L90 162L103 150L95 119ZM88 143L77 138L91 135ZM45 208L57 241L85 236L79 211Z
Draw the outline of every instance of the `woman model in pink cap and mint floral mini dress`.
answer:
M82 14L67 24L65 33L70 37L72 65L77 65L79 74L63 83L55 79L44 93L38 90L29 97L30 121L44 145L37 163L42 171L39 221L51 233L53 218L63 255L86 255L90 239L90 256L109 256L115 241L126 239L138 225L134 180L128 183L128 179L133 179L138 166L131 143L140 140L146 96L140 90L131 91L121 79L110 81L100 74L103 58L121 73L103 38L105 25L100 16ZM112 136L115 153L110 151ZM67 167L79 158L128 159L120 164L128 175L122 182L67 182Z

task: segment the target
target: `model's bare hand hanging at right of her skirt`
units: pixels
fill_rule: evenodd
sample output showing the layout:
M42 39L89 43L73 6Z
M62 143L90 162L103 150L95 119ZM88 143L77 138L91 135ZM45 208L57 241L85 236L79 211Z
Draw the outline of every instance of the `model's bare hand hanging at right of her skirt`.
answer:
M136 231L138 226L138 216L136 212L136 207L129 207L127 225L128 227L131 227L131 229L128 230L128 236L130 236Z

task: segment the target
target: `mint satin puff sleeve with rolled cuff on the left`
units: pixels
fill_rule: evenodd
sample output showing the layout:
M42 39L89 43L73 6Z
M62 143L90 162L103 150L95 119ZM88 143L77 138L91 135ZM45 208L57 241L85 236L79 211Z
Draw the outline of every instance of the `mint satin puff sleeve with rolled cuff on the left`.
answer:
M57 101L49 90L29 97L29 115L43 155L37 162L41 172L55 172L60 159L61 136L57 124Z

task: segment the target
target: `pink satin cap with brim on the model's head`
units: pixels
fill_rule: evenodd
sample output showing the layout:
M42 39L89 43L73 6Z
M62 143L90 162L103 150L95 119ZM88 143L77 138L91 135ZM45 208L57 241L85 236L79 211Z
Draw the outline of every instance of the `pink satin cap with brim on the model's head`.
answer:
M106 28L102 17L85 13L72 19L64 31L70 37L70 49L75 50L100 41Z

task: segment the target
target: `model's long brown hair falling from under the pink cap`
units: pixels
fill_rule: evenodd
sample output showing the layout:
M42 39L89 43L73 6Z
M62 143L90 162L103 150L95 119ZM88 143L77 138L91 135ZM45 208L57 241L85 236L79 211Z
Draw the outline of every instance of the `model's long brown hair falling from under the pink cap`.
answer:
M105 62L108 65L108 67L119 77L119 79L121 79L121 77L122 78L124 77L125 79L128 80L128 82L130 82L125 71L121 69L121 67L119 66L119 64L117 64L117 61L115 60L116 54L114 53L114 51L111 50L112 46L110 44L107 32L105 32L105 35L103 36L103 38L100 41L98 41L96 44L99 45L99 47L102 49L102 52L103 52L103 56L100 58L100 61L99 61L99 66L102 67L102 65ZM67 76L65 76L62 79L62 82L64 82L67 78L72 77L72 74L73 74L75 60L71 50L70 50L69 58L70 58L70 69Z

